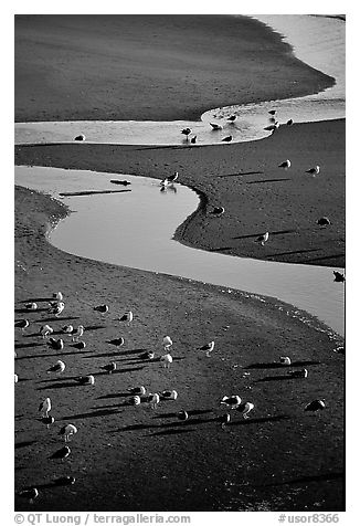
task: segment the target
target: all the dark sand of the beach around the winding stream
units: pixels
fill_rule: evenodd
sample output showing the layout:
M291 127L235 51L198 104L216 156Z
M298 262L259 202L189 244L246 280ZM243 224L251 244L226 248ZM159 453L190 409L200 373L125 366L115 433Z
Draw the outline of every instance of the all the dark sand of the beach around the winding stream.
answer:
M331 84L246 18L106 17L99 23L17 17L15 41L17 122L199 118L223 104ZM286 158L297 168L282 171L277 165ZM284 126L267 139L201 148L18 146L15 164L157 178L178 170L204 204L178 229L181 242L240 256L345 265L343 120ZM314 164L321 173L309 178L304 171ZM209 221L212 206L225 208L220 221ZM45 234L65 214L50 197L17 187L15 319L31 324L24 335L15 329L15 493L36 486L34 511L345 509L343 356L332 351L341 338L329 337L320 323L294 319L271 298L63 253ZM331 218L329 229L316 224L321 215ZM272 244L261 248L246 238L263 230L272 232ZM59 318L45 311L56 291L65 298ZM29 301L39 311L24 312ZM103 303L110 307L106 315L93 309ZM128 309L135 314L130 327L116 322ZM86 348L77 350L64 337L62 351L50 350L38 334L44 323L56 334L82 323ZM140 357L153 350L158 358L166 334L173 339L170 370ZM125 338L119 349L108 344L118 336ZM208 358L197 348L212 339ZM274 364L279 356L292 356L308 378L289 378ZM47 375L57 359L65 371ZM112 375L102 369L109 361L117 362ZM74 380L91 374L95 386ZM179 398L157 410L129 407L127 389L138 385L150 392L176 389ZM223 430L220 400L237 392L255 404L253 415L244 420L230 411ZM45 397L55 418L49 430L36 412ZM326 400L326 410L305 412L316 398ZM177 419L180 410L189 412L187 422ZM65 423L78 429L72 453L64 462L49 460L63 445L57 433ZM75 484L54 485L64 475L75 476ZM15 509L29 509L27 499L17 495Z

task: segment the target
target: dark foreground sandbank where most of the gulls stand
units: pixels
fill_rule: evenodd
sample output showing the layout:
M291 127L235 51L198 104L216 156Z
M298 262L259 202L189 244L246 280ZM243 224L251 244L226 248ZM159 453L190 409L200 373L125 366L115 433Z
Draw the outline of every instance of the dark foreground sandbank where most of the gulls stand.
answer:
M30 203L31 210L28 208ZM27 214L24 210L28 210ZM341 344L342 339L331 339L329 335L292 318L285 311L276 308L276 302L263 302L262 298L236 291L229 294L221 287L65 254L50 245L44 238L49 218L59 213L63 213L60 204L47 196L21 188L17 191L17 260L24 263L24 267L19 265L15 271L18 286L15 306L21 308L28 298L44 297L54 288L63 292L66 298L66 316L75 323L81 318L88 328L86 341L89 355L77 351L72 356L73 353L66 350L68 356L65 359L70 375L81 375L84 370L93 372L98 370L106 360L104 351L105 355L110 353L104 349L104 340L115 337L118 329L114 327L112 320L102 320L99 324L93 312L93 305L104 301L104 294L110 307L115 307L115 312L131 306L136 313L136 327L126 332L126 335L123 333L127 341L126 350L117 356L123 372L119 377L121 387L119 388L117 375L114 375L114 378L99 376L96 377L97 388L86 392L86 397L82 388L73 388L71 397L70 387L57 389L62 382L64 387L70 385L66 378L60 379L57 386L56 381L44 385L43 353L39 353L36 347L22 348L21 337L15 340L20 346L17 349L17 371L20 378L28 378L28 381L17 386L15 414L20 418L15 428L19 443L29 440L32 433L40 433L39 423L34 419L21 419L21 414L28 414L31 410L34 397L39 398L39 389L45 389L41 391L43 396L46 393L55 398L56 406L61 408L60 412L56 412L60 421L73 415L76 417L76 424L80 428L78 440L72 444L74 454L71 472L78 478L74 492L63 492L60 504L57 492L42 491L41 498L32 506L33 509L59 512L92 508L108 512L116 505L123 511L142 512L159 508L258 511L266 505L266 509L277 511L304 509L305 506L306 509L313 509L315 502L320 503L314 507L317 511L342 509L341 475L330 487L326 482L317 481L315 494L308 493L308 485L301 486L300 493L296 496L284 494L282 486L279 488L276 486L284 482L283 470L286 470L288 478L296 478L306 473L315 476L322 473L324 463L331 462L331 469L341 473L339 441L342 427L343 360L341 356L332 353L332 349ZM273 308L269 308L269 305ZM34 324L33 327L36 327L36 323L41 323L41 314L29 313L29 316ZM165 320L161 327L159 319ZM57 322L59 326L63 323L62 319ZM134 412L121 408L121 398L117 399L114 392L137 385L139 378L145 385L158 386L159 389L169 388L169 378L165 377L163 371L156 365L144 364L139 372L136 367L134 368L134 365L138 364L136 358L129 359L136 357L136 350L140 351L144 348L145 341L148 348L158 351L157 343L163 330L171 334L176 341L172 354L179 361L176 361L176 379L171 377L170 385L176 381L181 401L180 406L177 402L171 407L161 406L158 419L153 419L152 413L148 411ZM219 344L221 341L221 349L214 354L211 362L199 359L193 350L193 347L210 335L214 335ZM27 345L32 341L36 343L38 339L29 335ZM310 369L310 376L306 380L305 390L299 383L293 386L292 382L289 391L288 380L284 383L278 381L264 383L262 382L264 378L278 375L280 371L251 367L276 360L282 354L288 355L289 346L295 362L299 360L309 364L307 367ZM50 350L46 350L46 356L50 362L55 359ZM243 379L244 372L250 372L248 379ZM199 378L203 380L199 382ZM224 435L214 423L220 414L214 400L220 400L221 393L226 388L230 391L237 391L240 378L242 391L244 385L252 388L247 396L255 401L257 411L250 425L241 427L242 440L239 440L239 428L236 425L230 428L227 454L223 455ZM286 397L284 389L287 392ZM301 408L309 397L319 392L331 400L331 403L329 402L328 411L321 414L321 424L319 422L314 427L313 415L304 415ZM107 397L110 397L110 400L102 400ZM169 411L176 411L183 404L189 411L194 411L194 414L195 411L200 411L199 418L193 418L191 425L187 428L191 433L191 445L188 433L165 433L172 429L171 415L169 417L172 413ZM112 409L114 406L118 409ZM234 415L233 418L236 421ZM329 425L331 433L328 432ZM112 432L114 429L115 434ZM177 429L176 427L174 430ZM121 448L117 446L119 440ZM161 460L149 455L149 445L153 446L153 443L161 449ZM278 448L279 443L297 445L292 455L284 457L283 449ZM94 448L94 444L97 446ZM104 444L110 444L112 449ZM203 451L204 444L210 456L199 454ZM53 448L54 445L52 444ZM311 454L309 454L310 446ZM187 470L181 455L174 457L174 449L187 451L187 465L190 470ZM15 450L15 465L22 466L22 470L17 472L18 488L33 484L34 480L36 484L46 484L53 480L54 466L49 462L39 463L34 459L35 453L43 457L50 450L51 444L47 441L40 441L35 449L24 446ZM332 456L335 452L336 455ZM82 461L83 454L86 454L86 464ZM243 457L244 454L248 456L245 475L241 466L233 462L234 457L237 455ZM263 460L258 462L258 459ZM321 460L319 465L317 459ZM114 496L114 492L108 492L107 488L113 485L112 481L118 473L119 465L128 476L121 481L121 494L117 493ZM274 487L264 484L266 481L264 465L266 472L272 473ZM150 495L140 491L144 485L141 481L137 483L139 477L131 476L137 469L146 469L146 480L155 488ZM209 478L214 471L216 477ZM159 473L166 475L167 484L177 484L176 495L173 492L163 493ZM229 498L225 502L223 498L225 481L234 484L231 504ZM208 492L199 493L199 485L203 484ZM241 496L239 491L235 491L239 485L242 486ZM188 487L191 492L187 491ZM162 495L160 506L159 495ZM17 511L22 511L25 506L23 499L15 497Z

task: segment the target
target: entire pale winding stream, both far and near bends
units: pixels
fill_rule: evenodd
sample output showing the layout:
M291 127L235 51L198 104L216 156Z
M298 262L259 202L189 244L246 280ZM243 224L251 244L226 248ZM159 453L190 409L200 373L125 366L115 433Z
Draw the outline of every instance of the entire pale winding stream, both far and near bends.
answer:
M199 123L18 123L15 143L72 143L75 135L84 133L86 143L179 145L183 141L179 138L179 130L186 126L198 135L198 145L219 144L221 137L230 133L234 141L254 140L268 135L264 127L268 124L269 107L276 107L280 123L287 118L295 122L343 118L345 23L337 19L288 15L292 20L287 20L285 31L277 28L276 21L269 20L269 17L264 15L263 21L279 32L286 32L301 60L333 76L337 81L333 87L295 99L212 109L203 114ZM256 18L262 19L260 15ZM285 18L278 17L278 21L280 19L286 25ZM308 29L308 38L304 39L305 28L309 24L311 30ZM331 39L328 39L329 30L332 31ZM314 51L319 48L321 52L316 59ZM231 114L237 115L234 125L226 122ZM211 132L210 120L223 124L224 129ZM59 223L50 234L51 242L65 252L89 259L276 297L317 316L332 330L343 334L345 287L333 282L332 269L240 259L184 246L171 238L178 225L198 207L198 196L180 185L176 186L177 192L160 192L159 183L153 179L124 177L131 181L130 192L63 198L78 213L72 213ZM57 198L61 192L84 189L114 190L114 185L109 182L112 178L118 178L118 175L15 167L17 185ZM301 312L295 315L311 323Z

